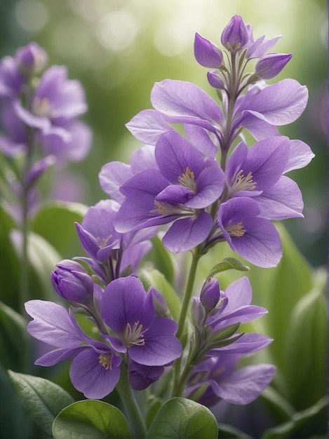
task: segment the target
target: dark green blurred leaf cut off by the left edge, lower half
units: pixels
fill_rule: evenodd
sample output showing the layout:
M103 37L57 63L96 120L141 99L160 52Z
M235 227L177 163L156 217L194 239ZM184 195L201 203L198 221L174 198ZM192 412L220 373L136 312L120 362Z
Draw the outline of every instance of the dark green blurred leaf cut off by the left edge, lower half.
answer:
M0 362L6 369L21 367L26 338L25 319L0 302Z

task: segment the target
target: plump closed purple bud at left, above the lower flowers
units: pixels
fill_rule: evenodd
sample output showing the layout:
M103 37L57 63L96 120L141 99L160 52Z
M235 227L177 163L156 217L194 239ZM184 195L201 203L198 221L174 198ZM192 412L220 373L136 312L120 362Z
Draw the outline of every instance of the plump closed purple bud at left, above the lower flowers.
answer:
M63 259L51 273L53 288L62 299L87 302L93 295L93 279L79 262Z

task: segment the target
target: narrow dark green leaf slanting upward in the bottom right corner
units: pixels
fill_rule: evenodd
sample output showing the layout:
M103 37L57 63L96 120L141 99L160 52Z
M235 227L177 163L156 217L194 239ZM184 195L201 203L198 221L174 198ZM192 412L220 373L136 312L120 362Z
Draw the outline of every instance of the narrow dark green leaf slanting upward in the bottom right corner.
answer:
M326 437L325 432L327 431L327 422L325 421L325 416L323 416L323 421L319 422L316 419L316 422L312 422L311 424L311 436L304 435L304 433L298 433L299 428L303 428L308 421L312 421L312 419L321 415L321 412L325 415L326 407L328 405L328 399L326 397L321 398L317 401L316 404L307 408L306 410L302 410L302 412L297 412L293 415L292 419L283 424L280 424L274 428L269 428L269 430L265 431L262 435L262 439L271 439L271 438L322 438ZM304 427L306 428L306 426ZM294 433L295 432L295 433ZM294 435L292 435L294 433ZM322 436L323 435L323 436Z

